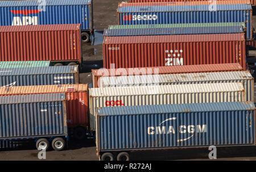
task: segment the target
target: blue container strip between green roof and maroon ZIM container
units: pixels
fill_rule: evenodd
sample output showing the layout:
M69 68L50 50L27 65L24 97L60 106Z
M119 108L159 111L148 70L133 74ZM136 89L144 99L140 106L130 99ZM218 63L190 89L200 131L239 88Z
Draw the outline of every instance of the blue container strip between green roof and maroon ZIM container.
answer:
M135 28L135 29L104 30L104 36L192 35L192 34L217 34L217 33L241 33L241 32L243 32L242 26Z

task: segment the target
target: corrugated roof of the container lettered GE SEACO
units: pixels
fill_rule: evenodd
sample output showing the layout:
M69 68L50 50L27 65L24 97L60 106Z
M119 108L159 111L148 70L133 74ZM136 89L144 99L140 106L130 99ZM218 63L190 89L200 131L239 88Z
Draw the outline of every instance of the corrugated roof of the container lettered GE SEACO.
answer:
M134 3L137 4L137 3ZM251 5L248 4L229 4L216 5L216 11L243 11L251 10ZM121 6L118 7L117 12L179 12L179 11L209 11L209 5L177 5L177 6Z

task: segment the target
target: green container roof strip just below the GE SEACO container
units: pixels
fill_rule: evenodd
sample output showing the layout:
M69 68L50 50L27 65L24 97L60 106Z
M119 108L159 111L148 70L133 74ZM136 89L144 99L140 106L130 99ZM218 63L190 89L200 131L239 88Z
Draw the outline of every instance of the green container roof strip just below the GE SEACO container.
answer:
M135 25L110 25L109 30L136 29L136 28L172 28L172 27L221 27L221 26L242 26L245 23L184 23L184 24L135 24Z

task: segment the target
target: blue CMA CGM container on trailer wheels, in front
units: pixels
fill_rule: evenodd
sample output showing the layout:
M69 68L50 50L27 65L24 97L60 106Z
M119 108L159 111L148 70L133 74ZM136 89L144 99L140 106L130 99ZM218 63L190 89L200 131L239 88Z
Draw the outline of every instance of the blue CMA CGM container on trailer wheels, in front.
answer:
M253 102L165 104L97 108L96 149L101 160L133 150L255 145ZM125 151L125 152L123 152Z

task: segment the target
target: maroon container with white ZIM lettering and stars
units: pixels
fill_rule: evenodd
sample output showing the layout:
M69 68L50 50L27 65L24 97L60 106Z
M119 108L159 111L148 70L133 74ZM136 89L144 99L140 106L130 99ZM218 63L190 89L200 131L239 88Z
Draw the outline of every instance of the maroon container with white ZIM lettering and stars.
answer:
M106 69L225 63L246 69L243 33L104 37L102 46Z

